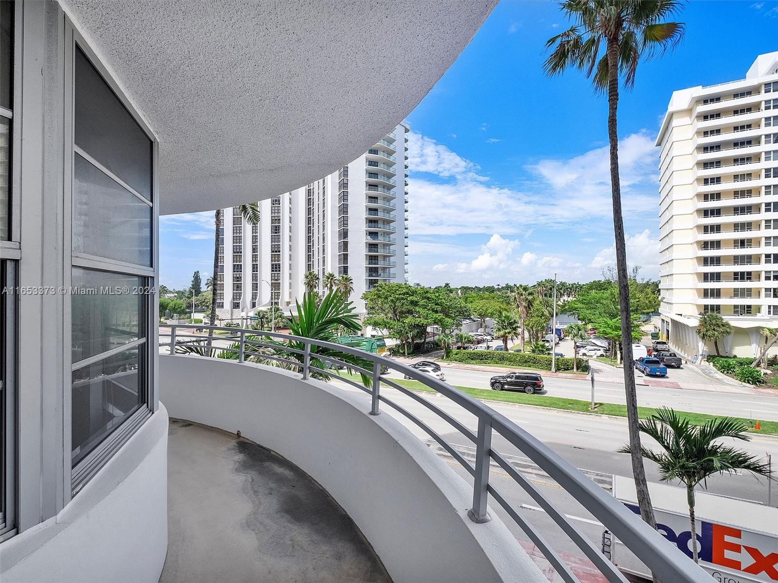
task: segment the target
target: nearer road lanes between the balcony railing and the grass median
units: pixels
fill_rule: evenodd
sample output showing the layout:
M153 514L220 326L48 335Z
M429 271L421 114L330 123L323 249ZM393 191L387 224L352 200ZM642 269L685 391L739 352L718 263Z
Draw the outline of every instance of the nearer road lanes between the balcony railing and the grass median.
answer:
M363 396L366 401L369 399L369 396L359 389L347 386L345 383L338 382L338 384ZM443 421L442 418L438 417L427 407L417 403L411 397L400 393L396 389L382 387L381 390L384 396L419 417L421 421L426 423L433 431L436 431L446 442L458 446L457 449L461 448L464 450L472 447L473 444L468 438L461 435L457 430L450 426L447 421ZM447 398L432 393L417 394L421 394L422 398L429 401L429 403L433 403L436 407L440 407L441 410L450 414L471 431L476 431L477 421L475 416L462 410L461 407L458 407L450 400L447 400ZM511 403L489 403L489 406L508 417L511 421L514 421L520 428L529 431L534 437L540 439L541 442L544 442L567 461L580 470L583 470L584 473L590 475L590 477L598 477L598 482L600 484L607 483L608 475L614 473L622 476L632 475L629 456L616 453L616 449L628 441L625 419L620 417L576 414L562 410L545 410L538 407L523 407ZM391 407L388 407L386 403L381 403L381 411L382 414L390 414L393 417L396 417L398 421L404 424L406 428L419 438L429 440L429 435L419 428L418 425L408 420L405 416L399 414ZM734 440L731 439L726 441L741 449L745 449L754 456L764 458L766 453L769 453L773 456L773 459L778 460L778 438L756 436L750 442L734 442ZM643 445L649 447L655 446L653 440L650 438L644 438ZM510 456L517 456L519 458L526 457L498 434L492 436L492 448ZM443 459L445 459L446 462L452 466L454 471L466 480L468 484L472 484L470 474L461 468L453 458L450 456L443 456ZM659 473L653 463L647 462L646 469L650 481L660 481ZM554 480L551 478L545 476L532 476L531 474L527 477L529 477L531 482L538 487L541 494L548 497L559 510L568 515L569 519L584 532L584 535L587 536L592 543L596 546L599 545L602 533L601 526L598 524L597 519L592 516L586 508L568 494L566 490L563 490L562 487L555 484ZM587 563L583 553L567 538L561 529L555 525L552 518L546 515L545 512L538 510L537 503L531 496L518 486L513 479L508 477L506 473L503 473L502 469L492 467L489 479L491 484L503 494L503 497L506 497L506 500L513 508L518 508L524 518L527 518L527 520L545 536L555 550L566 553L566 561L568 563L571 561L578 561L579 563L583 561L584 565ZM775 484L773 484L773 486L775 486ZM750 474L711 477L707 481L706 490L714 494L723 494L745 500L758 501L763 504L767 503L768 489L766 480L752 477ZM778 490L778 488L773 487L773 495L770 503L773 506L778 506L778 492L775 490ZM503 511L502 508L499 508L493 500L491 501L491 507L496 515L503 518L503 522L506 523L514 536L517 536L517 539L521 541L528 540L519 526L516 525L506 512ZM599 581L596 577L591 580Z

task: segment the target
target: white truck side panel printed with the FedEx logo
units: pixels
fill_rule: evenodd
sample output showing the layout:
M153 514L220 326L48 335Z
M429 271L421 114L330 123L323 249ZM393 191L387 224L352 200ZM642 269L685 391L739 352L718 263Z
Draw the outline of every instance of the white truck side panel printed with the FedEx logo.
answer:
M640 515L636 504L624 504ZM689 518L659 509L656 509L656 514L657 530L665 539L692 557ZM726 583L778 582L778 539L761 532L706 520L698 520L697 524L699 561L714 578ZM732 575L736 578L732 578Z

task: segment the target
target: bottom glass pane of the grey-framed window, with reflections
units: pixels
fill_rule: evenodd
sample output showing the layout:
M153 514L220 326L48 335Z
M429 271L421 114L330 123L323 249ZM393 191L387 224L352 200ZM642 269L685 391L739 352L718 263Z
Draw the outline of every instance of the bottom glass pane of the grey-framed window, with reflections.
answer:
M73 371L74 466L145 403L145 352L134 347Z

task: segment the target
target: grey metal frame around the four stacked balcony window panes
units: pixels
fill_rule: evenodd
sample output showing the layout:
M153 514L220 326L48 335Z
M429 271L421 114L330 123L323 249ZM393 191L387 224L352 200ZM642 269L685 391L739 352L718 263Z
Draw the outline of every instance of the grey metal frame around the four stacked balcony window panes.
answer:
M82 363L72 362L72 306L69 298L63 302L63 424L62 424L62 442L63 442L63 471L65 483L65 504L82 489L82 487L107 463L118 449L128 441L159 409L159 396L157 394L157 378L159 374L159 350L157 323L159 322L159 305L156 294L156 286L159 281L159 142L152 133L149 126L145 123L138 110L132 105L128 97L124 94L121 86L113 78L107 68L95 54L89 42L82 37L75 29L70 19L65 16L65 265L63 268L65 287L72 285L72 270L74 267L92 269L96 271L109 271L118 274L136 275L144 278L146 286L152 292L145 295L145 341L133 342L123 346L123 350L131 350L133 344L143 344L145 346L144 367L143 367L143 385L145 407L139 407L133 414L125 419L116 428L113 428L103 440L96 445L86 456L75 465L72 464L72 373L82 366ZM129 264L124 261L110 260L104 257L95 257L86 253L77 253L72 251L72 222L73 222L73 195L75 180L75 155L82 155L88 162L94 163L88 153L82 152L81 148L75 145L75 52L82 51L87 60L95 68L96 72L107 86L114 93L122 106L128 111L129 115L138 124L138 127L149 138L152 145L152 189L151 201L149 206L152 209L151 222L151 240L150 240L150 267L144 267L138 264ZM85 156L86 154L86 156ZM117 183L124 186L124 182L117 180L117 176L107 171L104 166L98 162L95 165L98 169L106 173L107 176L116 180ZM126 187L126 186L125 186ZM134 193L132 189L128 189ZM137 196L137 195L136 195ZM69 258L68 258L69 255ZM137 347L137 346L136 346ZM105 358L107 353L100 354ZM83 361L82 361L83 362ZM76 366L78 365L78 366Z

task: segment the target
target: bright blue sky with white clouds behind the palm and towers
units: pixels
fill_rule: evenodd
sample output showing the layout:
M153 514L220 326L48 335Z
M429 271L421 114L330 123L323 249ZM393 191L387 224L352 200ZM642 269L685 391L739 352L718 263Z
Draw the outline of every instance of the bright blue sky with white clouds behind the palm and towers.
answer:
M778 0L693 0L671 54L643 62L619 103L630 264L656 277L657 149L674 89L741 79L778 51ZM503 0L408 116L410 281L425 285L598 278L613 262L605 99L578 72L549 79L555 2ZM162 219L162 283L209 274L212 214Z

